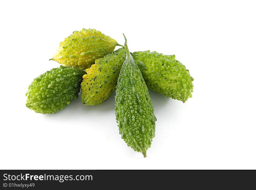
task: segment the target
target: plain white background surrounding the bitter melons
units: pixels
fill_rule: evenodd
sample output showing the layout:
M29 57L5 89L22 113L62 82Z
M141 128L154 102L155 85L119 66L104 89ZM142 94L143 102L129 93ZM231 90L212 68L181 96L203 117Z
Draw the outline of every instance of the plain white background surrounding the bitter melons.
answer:
M0 169L256 169L254 1L1 1ZM32 80L74 30L176 55L195 79L185 104L150 91L147 158L121 139L114 96L51 115L26 108ZM118 48L118 47L117 47ZM116 49L117 49L116 48Z

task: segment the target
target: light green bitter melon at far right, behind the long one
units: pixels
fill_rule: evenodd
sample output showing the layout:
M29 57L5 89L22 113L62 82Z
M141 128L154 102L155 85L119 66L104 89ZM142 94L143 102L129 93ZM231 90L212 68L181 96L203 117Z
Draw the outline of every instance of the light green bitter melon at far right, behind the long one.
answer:
M175 55L138 51L132 56L140 68L147 87L173 99L186 102L192 97L193 78Z

